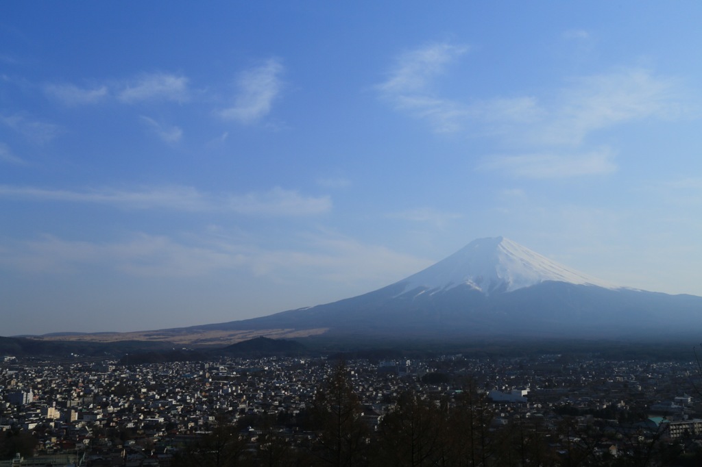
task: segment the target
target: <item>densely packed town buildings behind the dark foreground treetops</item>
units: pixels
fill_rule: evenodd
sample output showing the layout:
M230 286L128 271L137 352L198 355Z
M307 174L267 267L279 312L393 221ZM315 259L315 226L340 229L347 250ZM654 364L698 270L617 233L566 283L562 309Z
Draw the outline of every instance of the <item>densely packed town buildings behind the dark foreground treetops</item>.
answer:
M24 450L0 466L168 466L223 425L235 427L237 439L256 451L265 438L263 421L300 446L317 436L305 417L337 365L282 357L152 365L4 360L0 447ZM632 452L636 442L683 455L698 452L702 440L694 362L458 355L346 365L369 433L402 394L450 413L472 391L486 429L536 427L556 453L567 452L571 442L583 445L583 433L596 432L588 449L611 459ZM565 421L572 431L564 434Z

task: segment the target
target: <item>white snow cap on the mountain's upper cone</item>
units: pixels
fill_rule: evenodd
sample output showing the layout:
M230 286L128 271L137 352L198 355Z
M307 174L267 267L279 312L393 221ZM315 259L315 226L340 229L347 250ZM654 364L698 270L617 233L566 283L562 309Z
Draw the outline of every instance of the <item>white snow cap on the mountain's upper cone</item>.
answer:
M442 261L397 284L404 292L448 290L469 285L486 294L512 292L547 280L576 285L619 288L604 280L562 266L507 238L479 238Z

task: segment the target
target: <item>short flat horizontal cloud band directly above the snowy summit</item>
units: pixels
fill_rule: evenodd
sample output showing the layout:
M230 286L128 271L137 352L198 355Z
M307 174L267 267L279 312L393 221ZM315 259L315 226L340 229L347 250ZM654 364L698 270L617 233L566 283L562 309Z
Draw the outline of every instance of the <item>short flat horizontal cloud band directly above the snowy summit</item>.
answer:
M605 175L617 170L609 149L586 154L519 154L493 156L479 165L479 170L498 170L512 177L564 178Z

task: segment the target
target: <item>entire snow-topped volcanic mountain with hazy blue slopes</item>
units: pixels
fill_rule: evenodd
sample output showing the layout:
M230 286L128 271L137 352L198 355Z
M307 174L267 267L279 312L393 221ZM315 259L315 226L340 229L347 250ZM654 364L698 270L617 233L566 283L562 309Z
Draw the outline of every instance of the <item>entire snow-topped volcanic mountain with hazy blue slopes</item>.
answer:
M320 330L368 337L702 334L702 297L621 287L503 237L472 241L403 280L338 302L183 330Z

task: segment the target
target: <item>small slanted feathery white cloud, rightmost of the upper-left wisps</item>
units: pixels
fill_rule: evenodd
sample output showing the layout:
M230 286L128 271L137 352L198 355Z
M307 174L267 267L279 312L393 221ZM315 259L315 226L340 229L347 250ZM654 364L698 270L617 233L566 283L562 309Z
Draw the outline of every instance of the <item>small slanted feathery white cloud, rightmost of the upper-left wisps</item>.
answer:
M282 90L282 63L274 58L241 73L234 105L220 111L224 119L254 123L266 116Z

